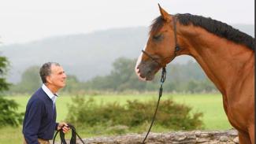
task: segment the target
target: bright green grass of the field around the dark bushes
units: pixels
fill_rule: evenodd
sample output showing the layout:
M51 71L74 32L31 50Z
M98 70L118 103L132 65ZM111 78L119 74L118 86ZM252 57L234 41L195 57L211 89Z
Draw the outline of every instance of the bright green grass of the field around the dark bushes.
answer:
M118 101L121 105L124 105L127 100L137 99L140 102L149 101L152 98L155 98L156 93L154 94L101 94L97 96L84 95L83 97L88 99L92 97L95 99L95 102L100 104L100 102L114 102ZM60 98L57 100L57 121L65 121L65 117L69 117L70 112L68 113L68 103L72 102L74 95L60 95ZM30 98L29 95L17 95L13 97L7 97L8 99L13 99L16 102L19 102L18 112L23 112L25 106ZM192 113L202 112L203 117L202 121L204 124L205 130L227 130L231 129L232 126L228 123L227 116L224 113L222 105L222 96L221 94L166 94L164 93L161 100L165 98L173 98L173 101L178 103L184 103L186 105L192 106ZM154 105L155 106L155 105ZM161 106L161 105L160 105ZM154 108L151 108L154 109ZM72 113L76 109L73 109ZM153 115L153 114L152 114ZM157 115L158 117L158 115ZM124 133L145 133L150 125L150 122L141 125L140 127L128 128L127 126L109 126L102 127L97 125L95 127L77 127L76 131L82 138L90 138L99 135L119 135ZM0 143L8 144L17 144L20 143L20 139L23 138L22 127L2 127L0 128L1 138ZM168 128L160 127L157 124L154 124L152 127L152 132L169 132L171 131ZM12 134L12 135L9 135ZM71 132L69 132L69 135ZM15 136L13 136L15 135ZM66 138L70 138L68 135Z

